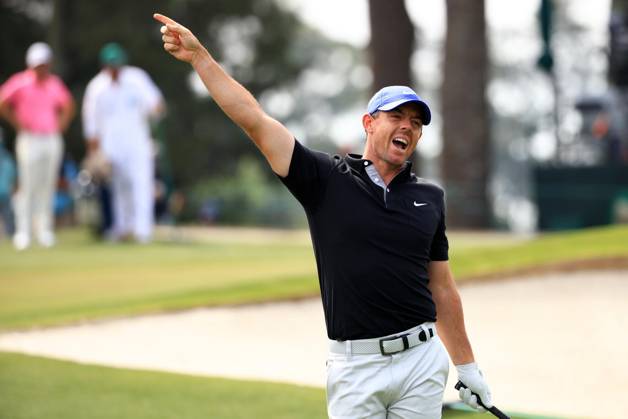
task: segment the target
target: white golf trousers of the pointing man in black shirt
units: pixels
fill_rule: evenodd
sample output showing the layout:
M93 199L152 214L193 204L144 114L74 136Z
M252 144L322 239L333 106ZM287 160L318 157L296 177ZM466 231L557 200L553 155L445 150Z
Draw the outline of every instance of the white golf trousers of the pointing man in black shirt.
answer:
M431 322L424 325L434 327ZM382 338L417 330L421 327ZM330 419L438 419L448 373L449 361L437 334L392 355L329 352L327 413Z

